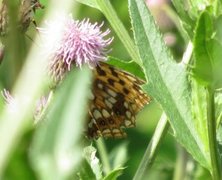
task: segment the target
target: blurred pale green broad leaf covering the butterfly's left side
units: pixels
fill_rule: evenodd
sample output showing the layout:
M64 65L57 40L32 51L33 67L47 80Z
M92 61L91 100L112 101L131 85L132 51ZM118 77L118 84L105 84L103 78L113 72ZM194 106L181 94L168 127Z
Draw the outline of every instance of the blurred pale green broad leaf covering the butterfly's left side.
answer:
M31 162L40 179L66 179L81 159L90 70L73 70L59 86L34 136Z

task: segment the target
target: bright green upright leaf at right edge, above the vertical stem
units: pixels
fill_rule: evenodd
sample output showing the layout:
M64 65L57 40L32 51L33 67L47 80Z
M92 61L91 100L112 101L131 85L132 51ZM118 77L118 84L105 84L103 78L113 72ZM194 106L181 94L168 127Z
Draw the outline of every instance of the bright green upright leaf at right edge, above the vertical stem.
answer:
M222 87L222 45L214 39L212 18L207 11L199 18L194 35L194 77L203 85Z

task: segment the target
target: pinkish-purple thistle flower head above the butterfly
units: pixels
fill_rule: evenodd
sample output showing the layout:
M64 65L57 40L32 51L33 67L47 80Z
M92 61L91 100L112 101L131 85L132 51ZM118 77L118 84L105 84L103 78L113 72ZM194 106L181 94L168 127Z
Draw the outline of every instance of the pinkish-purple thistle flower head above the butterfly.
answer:
M73 65L81 68L83 64L88 64L93 68L98 65L99 61L107 59L106 54L109 52L107 46L113 38L105 39L110 30L103 32L102 26L103 23L92 24L89 19L76 21L69 15L46 22L45 28L39 28L40 32L47 37L56 33L60 34L56 41L52 36L52 39L49 38L46 42L51 59L50 74L56 81L61 80Z

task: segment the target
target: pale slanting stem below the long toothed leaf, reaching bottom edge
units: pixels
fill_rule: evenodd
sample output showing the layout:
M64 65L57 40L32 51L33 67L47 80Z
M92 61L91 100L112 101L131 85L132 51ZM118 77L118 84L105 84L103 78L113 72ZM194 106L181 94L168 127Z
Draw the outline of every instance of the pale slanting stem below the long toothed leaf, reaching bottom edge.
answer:
M163 140L163 137L165 137L166 133L168 132L169 123L167 121L167 117L165 113L162 114L157 127L155 129L154 135L146 149L146 152L144 153L143 159L140 162L140 165L136 171L136 174L134 176L134 180L142 180L144 179L145 172L150 170L155 156L157 154L157 150L160 146L160 143Z

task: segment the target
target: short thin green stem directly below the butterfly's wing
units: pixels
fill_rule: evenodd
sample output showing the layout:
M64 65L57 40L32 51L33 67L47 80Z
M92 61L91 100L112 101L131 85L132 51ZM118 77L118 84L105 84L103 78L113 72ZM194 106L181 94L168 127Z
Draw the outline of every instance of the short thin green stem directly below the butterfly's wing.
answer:
M105 146L105 143L104 143L103 139L99 138L96 141L96 145L97 145L97 148L98 148L98 151L99 151L99 155L101 157L104 173L105 173L105 175L107 175L111 171L111 167L110 167L110 164L109 164L108 153L107 153L106 146Z

